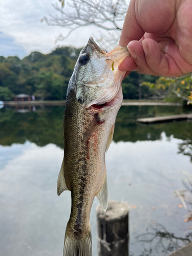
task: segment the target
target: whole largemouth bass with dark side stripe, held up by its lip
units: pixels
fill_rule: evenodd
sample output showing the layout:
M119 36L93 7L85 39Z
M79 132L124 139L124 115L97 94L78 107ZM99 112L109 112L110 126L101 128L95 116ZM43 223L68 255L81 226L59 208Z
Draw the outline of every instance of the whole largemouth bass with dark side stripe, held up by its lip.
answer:
M122 103L118 65L129 51L102 50L92 37L81 50L69 81L63 117L64 157L57 180L58 196L71 191L71 215L63 255L91 256L90 211L95 196L108 207L105 152L113 139Z

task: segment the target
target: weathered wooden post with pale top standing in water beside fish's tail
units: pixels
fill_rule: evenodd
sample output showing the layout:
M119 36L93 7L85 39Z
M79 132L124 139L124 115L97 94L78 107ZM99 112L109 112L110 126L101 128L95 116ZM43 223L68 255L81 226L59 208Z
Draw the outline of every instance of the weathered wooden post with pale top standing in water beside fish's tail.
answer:
M104 212L96 207L98 256L129 255L129 210L126 203L109 201Z

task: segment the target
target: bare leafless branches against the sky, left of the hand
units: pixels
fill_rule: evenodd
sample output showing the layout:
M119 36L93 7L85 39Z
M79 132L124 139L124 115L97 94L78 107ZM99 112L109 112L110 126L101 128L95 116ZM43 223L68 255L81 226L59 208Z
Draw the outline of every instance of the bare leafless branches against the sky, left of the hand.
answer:
M103 47L116 45L122 30L123 21L128 8L128 1L125 0L59 0L61 6L56 3L52 5L59 12L50 17L44 16L49 26L59 26L69 29L66 35L60 34L57 40L64 40L70 34L80 28L94 25L102 30L109 31L108 36L101 33L100 42ZM70 7L70 10L67 8ZM110 43L110 44L109 44Z

